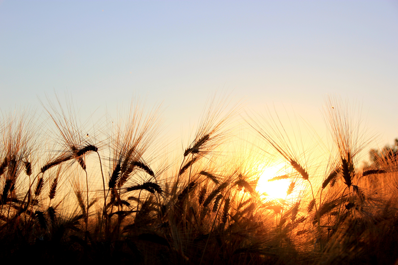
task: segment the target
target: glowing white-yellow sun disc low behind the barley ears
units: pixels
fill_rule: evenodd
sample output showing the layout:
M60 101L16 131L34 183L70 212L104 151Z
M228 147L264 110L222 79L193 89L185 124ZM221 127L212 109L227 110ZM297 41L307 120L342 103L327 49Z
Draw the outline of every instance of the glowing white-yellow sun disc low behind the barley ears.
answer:
M284 175L283 169L286 163L279 163L272 166L263 166L259 168L261 170L261 176L258 180L257 191L266 197L271 198L282 198L286 197L286 191L289 188L289 179L280 179L274 181L268 181L279 175Z

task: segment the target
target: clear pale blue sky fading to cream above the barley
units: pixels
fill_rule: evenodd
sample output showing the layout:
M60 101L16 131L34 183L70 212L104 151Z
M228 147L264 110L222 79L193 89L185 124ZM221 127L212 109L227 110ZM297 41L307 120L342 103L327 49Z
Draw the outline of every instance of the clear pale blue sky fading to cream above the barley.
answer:
M228 91L317 130L326 94L398 137L397 1L0 1L0 108L68 91L83 115L139 95L179 132Z

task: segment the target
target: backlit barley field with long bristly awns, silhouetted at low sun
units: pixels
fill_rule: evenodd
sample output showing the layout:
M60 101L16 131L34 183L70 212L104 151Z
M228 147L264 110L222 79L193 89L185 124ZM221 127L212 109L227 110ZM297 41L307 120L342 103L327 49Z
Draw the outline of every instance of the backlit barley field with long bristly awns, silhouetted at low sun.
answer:
M3 261L396 264L397 147L371 150L359 105L325 97L320 136L214 96L178 149L162 106L71 102L2 113Z

